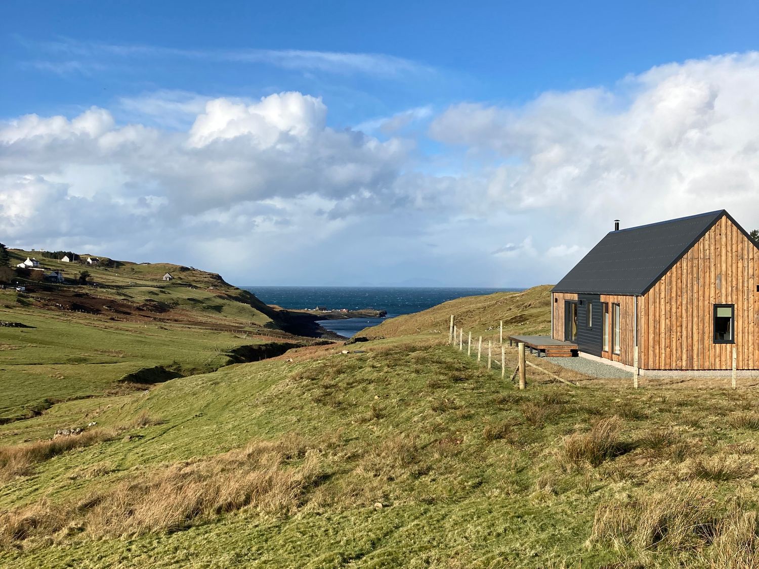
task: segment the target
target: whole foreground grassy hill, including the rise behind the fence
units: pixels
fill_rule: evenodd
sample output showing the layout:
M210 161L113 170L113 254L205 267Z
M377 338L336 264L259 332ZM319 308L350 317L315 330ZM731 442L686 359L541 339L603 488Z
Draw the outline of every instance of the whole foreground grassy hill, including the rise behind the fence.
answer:
M0 426L0 565L756 567L754 391L518 391L435 332L539 331L545 296Z

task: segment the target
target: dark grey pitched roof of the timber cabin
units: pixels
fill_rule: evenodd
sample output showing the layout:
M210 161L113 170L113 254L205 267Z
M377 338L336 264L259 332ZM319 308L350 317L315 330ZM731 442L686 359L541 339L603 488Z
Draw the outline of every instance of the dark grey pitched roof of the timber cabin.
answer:
M724 210L609 231L554 292L645 294L723 216ZM735 223L745 234L743 228Z

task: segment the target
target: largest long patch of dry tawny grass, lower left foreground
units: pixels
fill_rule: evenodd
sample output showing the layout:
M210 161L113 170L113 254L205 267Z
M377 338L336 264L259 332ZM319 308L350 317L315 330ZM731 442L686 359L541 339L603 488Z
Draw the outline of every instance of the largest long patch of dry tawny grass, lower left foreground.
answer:
M77 503L43 500L0 514L0 545L72 529L93 537L140 536L242 508L287 514L301 505L319 473L317 454L297 437L252 442L242 450L130 476Z

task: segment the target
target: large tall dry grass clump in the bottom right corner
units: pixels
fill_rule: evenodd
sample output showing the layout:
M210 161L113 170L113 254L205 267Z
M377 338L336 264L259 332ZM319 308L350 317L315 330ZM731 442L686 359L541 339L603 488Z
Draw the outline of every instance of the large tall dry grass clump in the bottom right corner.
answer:
M757 511L740 501L720 507L709 488L689 484L634 501L606 502L596 511L590 542L611 543L644 559L653 552L674 553L684 560L678 567L694 557L713 569L757 567Z

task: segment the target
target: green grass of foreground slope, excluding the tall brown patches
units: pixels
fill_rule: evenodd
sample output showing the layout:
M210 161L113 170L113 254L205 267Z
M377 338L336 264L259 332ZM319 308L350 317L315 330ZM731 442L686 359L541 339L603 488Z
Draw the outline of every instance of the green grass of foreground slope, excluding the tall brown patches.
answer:
M642 528L639 512L651 508L628 508L630 500L644 504L647 496L688 488L694 479L707 485L699 488L715 504L713 520L727 515L735 493L746 511L757 505L759 480L751 467L710 474L704 482L704 472L718 464L756 461L757 432L729 424L731 412L751 407L749 394L572 389L537 384L531 376L528 390L518 391L430 339L370 342L361 350L345 355L323 347L310 359L231 366L166 382L148 394L74 401L0 426L0 441L15 443L91 420L99 428L127 425L140 413L161 420L133 429L128 440L60 454L30 476L11 479L0 486L0 509L8 511L43 499L71 504L92 492L107 497L124 481L140 485L206 458L221 464L225 453L250 441L297 440L301 450L287 458L285 471L306 460L317 464L317 476L276 512L254 500L203 519L188 517L183 531L156 527L123 539L93 539L90 532L102 520L87 517L85 509L72 514L68 530L0 552L0 563L577 567L582 559L583 567L600 567L629 558L637 565L619 567L710 567L717 546L705 539L686 535L685 542L645 549L615 537L616 525L594 534L596 512L618 508L613 511L626 512L619 527ZM599 426L622 403L646 413L613 419L611 429ZM536 408L545 413L530 420ZM650 435L662 429L666 440ZM591 445L592 460L568 441ZM593 453L597 443L614 451ZM96 474L76 474L85 471ZM667 503L657 502L656 511Z

